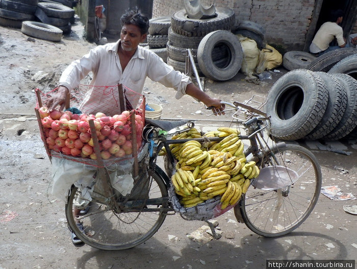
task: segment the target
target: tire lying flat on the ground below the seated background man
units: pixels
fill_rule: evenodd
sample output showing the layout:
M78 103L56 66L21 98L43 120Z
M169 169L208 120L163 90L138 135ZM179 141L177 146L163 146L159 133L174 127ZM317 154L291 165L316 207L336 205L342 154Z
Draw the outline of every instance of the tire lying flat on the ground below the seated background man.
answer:
M283 56L283 66L289 71L294 69L307 69L316 57L307 52L291 51Z

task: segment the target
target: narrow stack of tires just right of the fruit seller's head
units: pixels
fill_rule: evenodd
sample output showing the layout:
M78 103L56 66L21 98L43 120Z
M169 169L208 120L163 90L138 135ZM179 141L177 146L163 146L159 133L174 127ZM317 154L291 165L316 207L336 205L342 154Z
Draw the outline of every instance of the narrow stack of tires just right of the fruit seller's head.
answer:
M168 31L171 25L171 17L163 16L150 19L149 34L147 35L147 48L155 52L166 63Z

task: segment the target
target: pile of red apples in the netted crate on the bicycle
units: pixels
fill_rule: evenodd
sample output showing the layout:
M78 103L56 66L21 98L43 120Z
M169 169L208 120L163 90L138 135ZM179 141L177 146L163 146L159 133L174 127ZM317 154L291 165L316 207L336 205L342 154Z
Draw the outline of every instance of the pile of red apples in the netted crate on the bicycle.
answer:
M102 159L124 157L133 153L132 126L130 111L107 116L98 112L93 114L73 114L70 111L53 110L46 107L38 109L45 139L50 150L65 155L81 158L97 159L93 149L93 138L89 127L92 119L98 137L100 156ZM144 126L141 115L135 114L137 149L141 144L141 132Z

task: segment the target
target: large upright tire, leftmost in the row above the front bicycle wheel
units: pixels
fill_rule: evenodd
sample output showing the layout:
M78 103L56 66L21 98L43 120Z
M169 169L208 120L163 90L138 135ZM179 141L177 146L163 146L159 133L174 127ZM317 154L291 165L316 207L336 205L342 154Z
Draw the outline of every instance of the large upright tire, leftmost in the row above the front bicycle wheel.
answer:
M297 94L295 103L287 97ZM285 140L296 140L311 133L326 111L328 91L326 84L305 69L295 69L279 78L271 87L266 112L270 118L271 134ZM293 113L286 114L292 106Z

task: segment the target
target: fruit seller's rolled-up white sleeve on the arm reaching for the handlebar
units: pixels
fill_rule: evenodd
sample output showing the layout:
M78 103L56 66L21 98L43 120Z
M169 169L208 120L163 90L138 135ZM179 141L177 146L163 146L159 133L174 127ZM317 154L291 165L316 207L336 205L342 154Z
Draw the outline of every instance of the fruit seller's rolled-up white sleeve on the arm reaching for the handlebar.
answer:
M176 90L176 99L180 99L186 94L186 86L191 83L191 78L180 71L176 71L172 66L164 63L164 61L156 54L149 55L149 68L147 77L152 81L160 82L165 87L170 87Z

